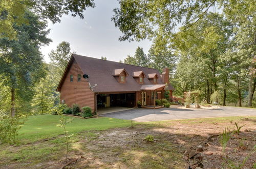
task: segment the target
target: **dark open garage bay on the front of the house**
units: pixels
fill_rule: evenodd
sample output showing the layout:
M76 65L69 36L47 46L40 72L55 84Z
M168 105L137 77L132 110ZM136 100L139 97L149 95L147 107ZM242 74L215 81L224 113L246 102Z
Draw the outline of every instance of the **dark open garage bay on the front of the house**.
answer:
M118 112L136 107L135 93L98 94L97 114Z

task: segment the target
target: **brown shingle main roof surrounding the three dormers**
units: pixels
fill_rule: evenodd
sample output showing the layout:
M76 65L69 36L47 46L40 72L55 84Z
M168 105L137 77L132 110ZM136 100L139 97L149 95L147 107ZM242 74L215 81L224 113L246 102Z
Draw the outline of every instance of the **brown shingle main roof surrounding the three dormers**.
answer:
M83 74L89 74L89 82L92 86L97 84L97 87L93 88L94 92L128 92L128 91L140 91L141 84L139 84L132 76L134 72L143 71L145 75L157 74L160 77L160 73L156 69L139 67L134 65L122 64L115 61L96 59L93 57L81 56L72 54L72 57L76 60L77 64L81 68ZM71 58L72 59L72 58ZM112 75L113 70L124 69L129 76L126 77L126 83L119 83ZM64 76L62 77L64 78ZM61 87L62 80L59 83ZM162 79L157 79L158 84L163 84ZM152 85L150 80L144 78L143 85ZM173 90L170 88L169 90Z

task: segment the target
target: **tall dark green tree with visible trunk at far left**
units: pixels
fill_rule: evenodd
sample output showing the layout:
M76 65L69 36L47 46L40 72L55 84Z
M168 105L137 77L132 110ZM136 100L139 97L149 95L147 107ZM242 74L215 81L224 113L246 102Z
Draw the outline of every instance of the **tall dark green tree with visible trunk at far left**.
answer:
M42 57L39 48L51 41L46 37L49 30L46 30L45 21L29 11L24 17L28 24L13 25L17 32L16 40L0 39L0 75L3 85L10 88L12 117L15 115L16 96L25 100L32 98L32 86L42 76Z

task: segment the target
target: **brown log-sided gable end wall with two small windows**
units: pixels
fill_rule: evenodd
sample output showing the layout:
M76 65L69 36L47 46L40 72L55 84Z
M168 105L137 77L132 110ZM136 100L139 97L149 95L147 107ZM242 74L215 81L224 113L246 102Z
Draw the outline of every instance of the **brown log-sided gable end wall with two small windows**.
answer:
M81 81L77 81L78 74L81 74ZM73 61L60 89L60 101L64 100L69 107L75 103L80 108L88 106L94 112L95 96L90 90L89 83L82 78L82 74L76 61ZM70 81L70 75L73 75L73 82Z

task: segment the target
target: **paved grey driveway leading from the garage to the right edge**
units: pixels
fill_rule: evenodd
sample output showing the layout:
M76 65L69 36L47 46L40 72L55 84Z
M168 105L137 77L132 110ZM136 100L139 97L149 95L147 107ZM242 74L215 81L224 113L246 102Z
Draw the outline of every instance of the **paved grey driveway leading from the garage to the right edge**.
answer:
M219 109L132 109L100 115L135 121L161 121L188 118L227 117L227 116L256 116L256 109L220 107Z

